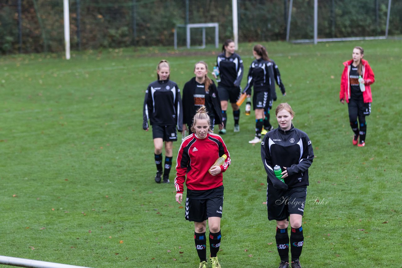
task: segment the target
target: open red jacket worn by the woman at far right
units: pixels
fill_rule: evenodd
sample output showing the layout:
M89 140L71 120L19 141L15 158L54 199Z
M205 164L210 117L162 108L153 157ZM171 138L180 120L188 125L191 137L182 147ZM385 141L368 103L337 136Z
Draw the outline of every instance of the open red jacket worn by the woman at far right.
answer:
M349 99L351 98L351 87L350 87L350 81L349 81L349 72L351 69L351 64L353 63L353 59L349 61L345 61L343 65L345 65L345 69L343 69L342 76L340 77L340 92L339 92L339 98L340 100L346 100L347 103L349 103ZM366 90L363 93L363 102L368 103L368 102L373 102L373 98L371 97L371 88L370 85L374 83L374 73L373 70L371 70L370 65L368 61L361 59L361 63L363 64L363 79L364 79L364 85ZM345 97L346 95L346 97Z

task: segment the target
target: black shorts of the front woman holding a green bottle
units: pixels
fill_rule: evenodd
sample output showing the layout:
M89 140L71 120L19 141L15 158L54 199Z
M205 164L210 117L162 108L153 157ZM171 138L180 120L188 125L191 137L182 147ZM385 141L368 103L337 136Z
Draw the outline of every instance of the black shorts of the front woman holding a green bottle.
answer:
M303 215L306 204L307 186L290 188L286 191L275 189L274 186L267 187L267 210L270 221L282 221L290 214Z

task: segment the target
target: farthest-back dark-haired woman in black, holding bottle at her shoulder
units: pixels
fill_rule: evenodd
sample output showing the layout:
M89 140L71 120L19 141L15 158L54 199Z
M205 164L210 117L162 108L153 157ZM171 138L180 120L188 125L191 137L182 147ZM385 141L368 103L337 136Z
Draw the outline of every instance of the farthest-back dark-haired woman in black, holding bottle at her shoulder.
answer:
M234 41L228 39L222 46L222 53L216 59L216 65L219 69L220 81L218 82L219 98L221 99L222 120L224 128L219 131L219 134L226 133L226 110L228 109L228 100L232 105L234 118L234 132L240 131L239 119L240 109L236 102L240 97L240 83L243 78L243 61L239 55L234 53ZM213 74L215 76L215 74ZM216 78L216 76L215 76Z

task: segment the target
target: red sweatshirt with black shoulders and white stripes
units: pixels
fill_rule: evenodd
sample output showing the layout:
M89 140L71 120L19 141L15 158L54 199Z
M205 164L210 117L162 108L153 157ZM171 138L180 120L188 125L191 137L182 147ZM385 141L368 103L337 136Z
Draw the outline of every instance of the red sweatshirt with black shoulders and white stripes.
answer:
M221 173L212 176L209 168L224 154L227 158L220 166ZM183 193L184 182L190 190L210 190L223 185L222 172L230 165L230 154L221 136L208 133L205 139L199 139L193 133L181 143L176 163L174 186L177 193Z

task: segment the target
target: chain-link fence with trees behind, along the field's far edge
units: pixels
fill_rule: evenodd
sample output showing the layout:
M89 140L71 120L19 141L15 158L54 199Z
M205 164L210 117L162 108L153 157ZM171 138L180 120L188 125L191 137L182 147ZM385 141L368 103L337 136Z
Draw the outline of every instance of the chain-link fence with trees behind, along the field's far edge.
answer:
M189 23L219 23L219 39L232 38L231 0L70 0L71 49L173 46L186 4ZM289 0L238 0L239 41L284 40L288 8ZM327 0L318 8L319 38L384 35L388 0ZM312 38L313 9L314 0L293 1L290 39ZM192 30L192 44L201 44L201 31ZM213 44L213 29L206 31ZM394 0L389 35L401 33L402 1ZM62 0L0 0L0 53L63 50Z

